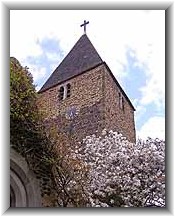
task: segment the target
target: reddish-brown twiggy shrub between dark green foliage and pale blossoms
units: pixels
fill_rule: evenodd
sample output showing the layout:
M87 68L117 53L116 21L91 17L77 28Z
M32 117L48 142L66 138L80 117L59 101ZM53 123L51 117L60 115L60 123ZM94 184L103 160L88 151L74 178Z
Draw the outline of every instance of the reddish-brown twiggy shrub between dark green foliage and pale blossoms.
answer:
M48 138L54 150L52 174L57 192L56 204L61 207L85 207L84 195L87 168L82 161L73 158L74 139L58 133L56 126L48 127Z

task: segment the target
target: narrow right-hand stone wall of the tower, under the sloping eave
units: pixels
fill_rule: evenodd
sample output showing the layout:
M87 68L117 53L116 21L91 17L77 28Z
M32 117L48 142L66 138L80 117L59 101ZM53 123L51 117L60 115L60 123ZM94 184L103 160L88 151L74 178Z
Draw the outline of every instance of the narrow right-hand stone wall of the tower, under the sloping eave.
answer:
M134 110L115 84L106 67L104 72L105 126L109 130L122 133L129 141L135 142ZM124 109L119 104L119 93L123 97Z

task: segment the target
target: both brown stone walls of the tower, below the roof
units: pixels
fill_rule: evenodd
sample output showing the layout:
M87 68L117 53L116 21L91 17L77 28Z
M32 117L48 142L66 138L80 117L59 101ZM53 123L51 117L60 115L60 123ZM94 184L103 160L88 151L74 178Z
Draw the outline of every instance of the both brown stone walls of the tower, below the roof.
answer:
M60 86L67 83L71 85L71 96L60 101ZM124 110L120 108L119 92L103 64L41 93L38 105L45 121L56 123L61 133L74 136L77 141L106 128L121 132L135 142L134 110L124 95ZM72 107L78 114L68 119L66 113Z

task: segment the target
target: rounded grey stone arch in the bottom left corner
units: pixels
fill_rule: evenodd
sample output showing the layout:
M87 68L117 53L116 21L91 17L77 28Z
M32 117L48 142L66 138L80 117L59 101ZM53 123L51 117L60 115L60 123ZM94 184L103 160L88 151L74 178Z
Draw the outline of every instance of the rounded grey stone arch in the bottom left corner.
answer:
M41 207L41 192L35 174L25 159L10 150L10 207Z

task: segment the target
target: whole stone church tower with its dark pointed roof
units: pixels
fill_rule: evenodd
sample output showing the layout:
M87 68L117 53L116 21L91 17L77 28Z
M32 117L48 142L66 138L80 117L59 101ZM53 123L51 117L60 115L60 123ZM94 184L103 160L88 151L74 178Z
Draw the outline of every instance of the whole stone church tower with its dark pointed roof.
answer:
M106 128L135 142L135 109L86 34L38 93L45 121L61 133L81 141Z

